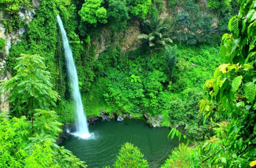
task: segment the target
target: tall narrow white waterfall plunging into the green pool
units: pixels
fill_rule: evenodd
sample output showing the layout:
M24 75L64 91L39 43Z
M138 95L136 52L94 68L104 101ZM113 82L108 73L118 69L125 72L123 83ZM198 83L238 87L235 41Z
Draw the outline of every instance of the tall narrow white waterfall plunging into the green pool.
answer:
M88 130L87 120L86 120L86 116L84 113L84 108L81 100L81 94L80 94L79 85L78 85L78 77L77 77L77 72L76 72L76 68L73 60L73 54L69 46L69 41L67 38L66 31L63 28L62 20L60 19L59 15L57 15L57 20L58 20L60 31L61 31L61 38L62 38L63 48L65 51L65 56L67 61L68 75L73 85L72 94L73 94L73 101L74 101L74 106L76 111L76 132L72 134L83 139L88 139L91 137L91 134L89 133L89 130Z

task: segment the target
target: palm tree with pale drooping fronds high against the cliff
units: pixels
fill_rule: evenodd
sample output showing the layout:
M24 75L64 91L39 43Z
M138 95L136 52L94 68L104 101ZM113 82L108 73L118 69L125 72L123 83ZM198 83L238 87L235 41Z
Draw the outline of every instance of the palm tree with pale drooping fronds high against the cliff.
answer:
M162 23L162 18L144 20L142 34L138 35L138 39L145 40L151 48L157 45L169 46L168 43L172 43L172 39L168 37L168 32L169 29Z

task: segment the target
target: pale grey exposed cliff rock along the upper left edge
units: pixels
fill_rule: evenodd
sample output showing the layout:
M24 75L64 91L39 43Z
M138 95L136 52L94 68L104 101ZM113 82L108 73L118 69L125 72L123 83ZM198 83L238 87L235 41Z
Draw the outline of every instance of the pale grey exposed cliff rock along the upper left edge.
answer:
M21 7L18 13L20 20L23 20L26 23L29 23L33 19L33 15L37 7L39 6L39 1L34 0L34 9L28 11L27 9ZM2 19L10 18L10 16L5 15L3 11L0 11L0 38L5 40L5 46L3 51L0 52L0 80L10 79L11 74L6 69L6 62L8 61L9 50L12 45L15 45L20 41L22 35L26 32L25 27L21 27L18 30L7 32L6 26L1 22ZM9 101L7 100L7 94L0 95L0 113L6 112L9 113Z

